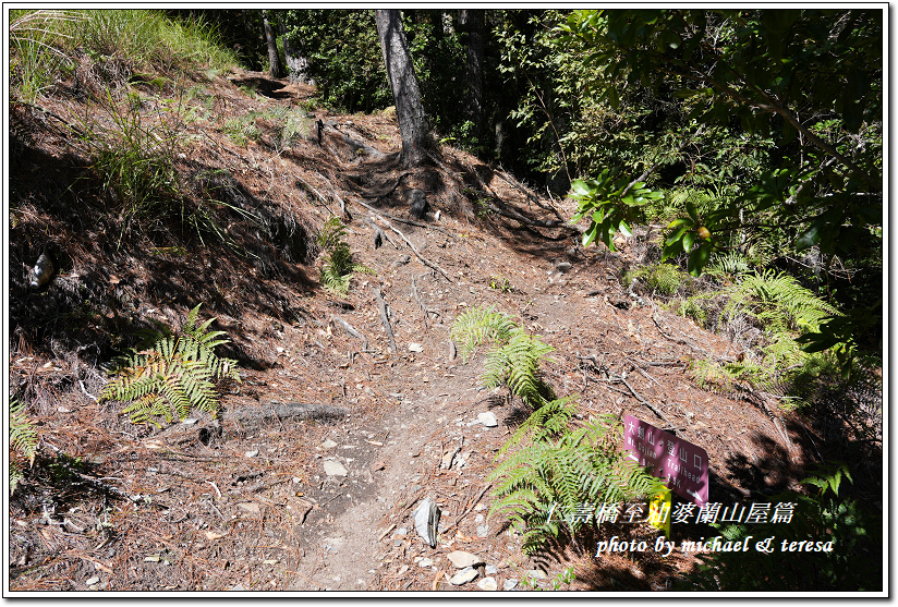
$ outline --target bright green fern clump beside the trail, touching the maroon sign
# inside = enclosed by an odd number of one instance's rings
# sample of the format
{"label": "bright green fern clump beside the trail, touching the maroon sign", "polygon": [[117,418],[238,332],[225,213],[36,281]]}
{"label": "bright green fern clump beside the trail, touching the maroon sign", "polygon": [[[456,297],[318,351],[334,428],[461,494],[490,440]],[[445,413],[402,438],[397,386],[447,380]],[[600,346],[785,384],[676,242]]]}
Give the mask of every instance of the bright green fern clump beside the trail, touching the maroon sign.
{"label": "bright green fern clump beside the trail, touching the maroon sign", "polygon": [[[473,307],[459,315],[450,336],[463,359],[486,340],[496,342],[486,359],[486,387],[507,385],[534,411],[499,450],[506,457],[489,474],[497,483],[489,515],[500,513],[523,532],[523,549],[538,550],[562,529],[575,533],[587,522],[565,519],[583,503],[621,501],[656,491],[659,482],[619,451],[621,426],[604,415],[573,423],[575,396],[556,398],[541,365],[553,348],[530,336],[495,308]],[[556,518],[553,519],[553,513]]]}

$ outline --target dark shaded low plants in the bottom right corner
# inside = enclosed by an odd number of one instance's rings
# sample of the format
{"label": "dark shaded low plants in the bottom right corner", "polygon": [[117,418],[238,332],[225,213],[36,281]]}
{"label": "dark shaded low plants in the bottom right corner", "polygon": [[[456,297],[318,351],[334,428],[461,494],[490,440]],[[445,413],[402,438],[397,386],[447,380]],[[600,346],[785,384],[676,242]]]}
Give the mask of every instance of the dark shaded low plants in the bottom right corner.
{"label": "dark shaded low plants in the bottom right corner", "polygon": [[[786,491],[770,497],[770,503],[794,503],[788,523],[714,525],[725,541],[739,541],[748,535],[759,539],[775,537],[773,551],[757,551],[752,546],[748,550],[699,555],[700,564],[682,579],[678,590],[884,590],[882,517],[860,500],[839,497],[842,479],[853,482],[845,464],[822,464],[802,481],[804,485],[816,487],[810,495]],[[784,543],[790,546],[801,541],[822,550],[794,553],[782,549]]]}

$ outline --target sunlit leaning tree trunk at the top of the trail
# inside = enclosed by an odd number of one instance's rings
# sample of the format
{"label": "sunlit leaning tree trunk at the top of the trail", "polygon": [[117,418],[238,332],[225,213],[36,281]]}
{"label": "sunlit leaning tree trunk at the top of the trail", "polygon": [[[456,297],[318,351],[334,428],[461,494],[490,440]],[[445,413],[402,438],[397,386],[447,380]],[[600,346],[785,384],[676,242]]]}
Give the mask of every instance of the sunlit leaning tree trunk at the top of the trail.
{"label": "sunlit leaning tree trunk at the top of the trail", "polygon": [[427,153],[435,149],[427,116],[421,101],[412,56],[399,11],[396,9],[375,11],[377,35],[380,37],[380,50],[384,64],[390,78],[399,131],[402,134],[402,153],[400,163],[404,168],[417,167],[427,160]]}

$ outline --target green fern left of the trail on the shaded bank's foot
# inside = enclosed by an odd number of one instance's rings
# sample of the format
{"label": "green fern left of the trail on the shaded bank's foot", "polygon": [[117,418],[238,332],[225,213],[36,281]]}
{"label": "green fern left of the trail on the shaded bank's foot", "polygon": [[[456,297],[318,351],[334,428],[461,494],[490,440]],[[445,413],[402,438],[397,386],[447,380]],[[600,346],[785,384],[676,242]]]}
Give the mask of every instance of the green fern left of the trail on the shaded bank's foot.
{"label": "green fern left of the trail on the shaded bank's foot", "polygon": [[[202,305],[202,304],[201,304]],[[218,393],[214,381],[230,377],[240,381],[236,361],[220,359],[215,348],[229,343],[223,331],[209,331],[215,318],[196,324],[199,305],[187,315],[175,336],[168,327],[145,333],[139,349],[116,360],[118,377],[109,380],[100,392],[100,400],[131,401],[123,409],[131,413],[135,424],[153,423],[173,416],[183,420],[191,409],[218,411]]]}

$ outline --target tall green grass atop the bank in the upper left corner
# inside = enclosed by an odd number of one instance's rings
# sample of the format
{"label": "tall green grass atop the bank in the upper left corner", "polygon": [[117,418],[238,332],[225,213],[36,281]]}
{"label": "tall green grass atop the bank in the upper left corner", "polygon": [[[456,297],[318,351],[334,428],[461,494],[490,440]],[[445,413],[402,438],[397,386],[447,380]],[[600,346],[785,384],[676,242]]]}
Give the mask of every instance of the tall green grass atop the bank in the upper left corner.
{"label": "tall green grass atop the bank in the upper left corner", "polygon": [[14,96],[32,101],[61,78],[76,53],[116,58],[132,70],[225,70],[238,63],[215,27],[174,21],[159,10],[12,11],[10,72]]}

